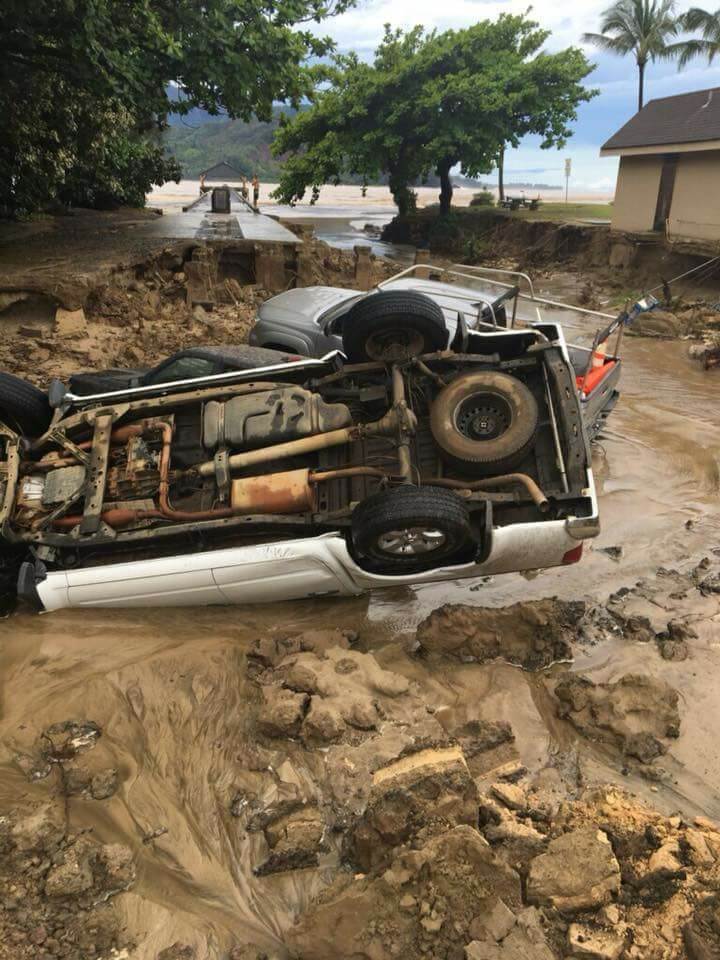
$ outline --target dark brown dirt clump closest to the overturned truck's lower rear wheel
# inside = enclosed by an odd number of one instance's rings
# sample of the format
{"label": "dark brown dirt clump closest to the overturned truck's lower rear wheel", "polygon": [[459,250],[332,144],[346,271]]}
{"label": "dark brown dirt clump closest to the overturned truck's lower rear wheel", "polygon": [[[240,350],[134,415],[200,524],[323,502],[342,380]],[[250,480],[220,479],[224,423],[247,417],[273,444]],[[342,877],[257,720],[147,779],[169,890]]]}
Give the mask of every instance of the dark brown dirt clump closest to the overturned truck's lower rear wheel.
{"label": "dark brown dirt clump closest to the overturned truck's lower rear wheel", "polygon": [[539,669],[572,658],[571,640],[584,610],[582,603],[557,599],[500,608],[446,604],[419,625],[417,641],[463,661],[501,658]]}

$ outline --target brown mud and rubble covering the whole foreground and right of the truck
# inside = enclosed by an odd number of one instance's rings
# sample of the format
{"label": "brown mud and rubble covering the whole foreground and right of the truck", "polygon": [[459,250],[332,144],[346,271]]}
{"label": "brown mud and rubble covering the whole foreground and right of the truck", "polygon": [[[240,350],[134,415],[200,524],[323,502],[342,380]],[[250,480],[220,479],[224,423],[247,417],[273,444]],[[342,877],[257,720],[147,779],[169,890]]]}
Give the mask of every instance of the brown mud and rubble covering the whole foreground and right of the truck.
{"label": "brown mud and rubble covering the whole foreground and right of the truck", "polygon": [[[103,357],[207,335],[146,269],[87,308]],[[241,290],[205,342],[242,338]],[[39,381],[100,363],[24,337]],[[0,623],[0,957],[720,955],[720,423],[683,344],[625,364],[574,567]]]}

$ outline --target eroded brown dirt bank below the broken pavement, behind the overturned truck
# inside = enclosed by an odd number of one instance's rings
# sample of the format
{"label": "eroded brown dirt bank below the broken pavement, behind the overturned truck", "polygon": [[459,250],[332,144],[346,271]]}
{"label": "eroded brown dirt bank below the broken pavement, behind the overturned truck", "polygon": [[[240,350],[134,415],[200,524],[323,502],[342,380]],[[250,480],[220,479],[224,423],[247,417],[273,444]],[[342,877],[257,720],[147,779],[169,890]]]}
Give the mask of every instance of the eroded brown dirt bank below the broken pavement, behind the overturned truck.
{"label": "eroded brown dirt bank below the broken pavement, behind the overturned truck", "polygon": [[[81,370],[147,368],[187,347],[245,343],[272,296],[243,266],[247,251],[227,243],[183,241],[82,275],[72,250],[66,257],[32,280],[0,278],[0,369],[41,387]],[[313,240],[301,259],[299,285],[355,282],[352,251]],[[375,282],[396,267],[372,257],[369,269]]]}

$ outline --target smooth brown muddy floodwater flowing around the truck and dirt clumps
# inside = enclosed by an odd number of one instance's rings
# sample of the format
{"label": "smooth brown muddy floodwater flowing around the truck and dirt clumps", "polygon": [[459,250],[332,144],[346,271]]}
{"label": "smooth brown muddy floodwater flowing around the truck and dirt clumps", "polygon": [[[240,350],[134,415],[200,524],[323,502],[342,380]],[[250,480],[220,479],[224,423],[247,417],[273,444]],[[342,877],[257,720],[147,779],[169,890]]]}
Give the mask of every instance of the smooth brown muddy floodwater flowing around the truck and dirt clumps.
{"label": "smooth brown muddy floodwater flowing around the truck and dirt clumps", "polygon": [[[569,340],[588,341],[593,324],[568,319],[566,331]],[[595,681],[643,673],[679,691],[681,734],[658,786],[623,777],[607,753],[579,741],[557,720],[535,674],[504,663],[450,669],[407,654],[418,623],[442,604],[549,596],[603,602],[658,567],[683,570],[720,545],[720,372],[693,365],[682,342],[627,337],[623,352],[622,397],[594,455],[602,534],[576,566],[265,607],[20,610],[0,624],[0,809],[47,794],[47,779],[33,782],[18,762],[45,728],[68,719],[99,725],[94,754],[117,768],[120,787],[102,803],[69,797],[67,811],[71,825],[135,852],[137,881],[117,898],[141,944],[133,957],[154,960],[178,940],[196,946],[198,957],[224,956],[238,941],[282,955],[283,931],[337,863],[330,843],[313,871],[255,876],[256,835],[240,831],[231,812],[234,798],[257,789],[257,772],[248,772],[255,750],[248,707],[258,693],[245,654],[265,634],[357,631],[360,649],[419,683],[430,709],[463,716],[480,705],[510,721],[529,769],[554,753],[579,751],[591,780],[622,782],[667,812],[720,817],[720,620],[700,601],[697,609],[686,601],[682,611],[700,624],[689,660],[667,662],[648,644],[622,638],[574,651],[573,669]],[[662,597],[648,606],[667,621]],[[268,802],[288,785],[316,794],[324,755],[299,754],[290,744],[283,760],[275,755],[279,766],[262,786]]]}

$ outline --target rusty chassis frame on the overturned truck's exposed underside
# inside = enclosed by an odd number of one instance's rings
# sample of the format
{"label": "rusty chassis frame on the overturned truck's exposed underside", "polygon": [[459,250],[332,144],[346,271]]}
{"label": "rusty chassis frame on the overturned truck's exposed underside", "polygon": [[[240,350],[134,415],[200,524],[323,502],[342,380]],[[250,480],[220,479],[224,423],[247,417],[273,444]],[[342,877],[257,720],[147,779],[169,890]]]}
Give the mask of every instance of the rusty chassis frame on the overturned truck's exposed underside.
{"label": "rusty chassis frame on the overturned truck's exposed underside", "polygon": [[[497,355],[480,354],[456,354],[452,350],[439,351],[437,353],[426,354],[416,358],[406,364],[408,368],[415,368],[423,375],[433,379],[436,383],[443,384],[441,372],[444,367],[467,366],[471,364],[493,364],[498,369],[507,369],[517,366],[531,364],[540,364],[543,367],[544,377],[546,378],[548,397],[552,418],[557,431],[557,424],[562,426],[564,436],[567,438],[568,449],[563,461],[564,476],[564,494],[558,494],[556,499],[565,499],[577,497],[577,492],[571,492],[572,487],[575,490],[582,489],[584,486],[584,465],[589,462],[589,449],[585,440],[584,431],[580,419],[580,412],[577,398],[574,390],[574,383],[571,380],[567,364],[564,362],[559,347],[553,346],[546,338],[544,342],[538,342],[530,348],[529,353],[515,361],[500,361]],[[9,543],[26,543],[28,545],[42,545],[48,548],[67,548],[80,549],[90,546],[109,545],[113,543],[142,543],[148,540],[164,539],[166,537],[178,536],[182,534],[194,533],[199,530],[216,532],[223,529],[238,530],[252,529],[253,531],[267,531],[279,534],[283,529],[297,531],[299,528],[312,526],[313,533],[320,532],[323,529],[337,529],[338,526],[349,522],[350,509],[335,511],[333,513],[303,513],[303,514],[249,514],[236,515],[229,508],[221,508],[208,511],[199,511],[195,514],[185,513],[183,511],[173,511],[168,500],[168,469],[169,469],[169,450],[172,438],[172,426],[167,420],[163,420],[163,414],[167,414],[171,409],[187,404],[193,401],[202,402],[214,397],[233,397],[254,392],[274,389],[277,386],[287,385],[289,375],[290,382],[297,380],[296,375],[307,372],[308,367],[320,367],[324,376],[313,379],[304,377],[302,382],[307,382],[311,387],[317,388],[323,384],[340,380],[353,374],[380,372],[387,370],[383,363],[362,363],[343,366],[342,369],[328,370],[330,363],[323,364],[297,364],[287,365],[284,368],[276,368],[285,376],[281,381],[249,381],[244,383],[228,383],[225,375],[223,382],[217,382],[218,377],[208,378],[205,386],[191,390],[183,390],[177,393],[167,391],[164,396],[142,397],[137,400],[124,400],[118,403],[107,404],[97,408],[82,409],[77,413],[70,414],[63,418],[62,412],[56,413],[56,417],[51,424],[48,432],[30,445],[30,451],[38,451],[47,443],[56,443],[64,451],[62,465],[70,463],[82,463],[88,467],[88,478],[85,486],[79,492],[75,499],[84,497],[84,509],[81,516],[66,518],[72,520],[72,529],[67,533],[54,533],[49,530],[19,535],[9,523],[15,499],[17,496],[17,487],[20,479],[21,468],[21,443],[20,439],[10,430],[0,424],[0,437],[6,439],[7,458],[5,463],[0,464],[0,479],[5,474],[5,496],[0,506],[0,533]],[[439,368],[439,370],[438,370]],[[268,373],[268,370],[264,370]],[[275,370],[273,370],[275,372]],[[237,375],[236,375],[237,376]],[[395,452],[397,456],[397,470],[394,472],[382,471],[373,467],[351,467],[340,470],[314,470],[310,476],[312,482],[323,482],[340,476],[349,476],[352,474],[372,475],[381,479],[383,482],[410,483],[413,481],[413,464],[411,460],[411,439],[415,433],[417,422],[414,413],[410,410],[405,392],[405,382],[401,366],[394,364],[390,370],[392,405],[380,420],[365,423],[357,426],[343,428],[332,431],[331,433],[318,434],[306,437],[300,440],[288,441],[282,444],[276,444],[270,447],[260,448],[259,450],[248,451],[245,453],[233,454],[228,458],[229,467],[236,470],[243,469],[252,465],[261,464],[269,460],[283,459],[298,454],[309,453],[320,449],[325,449],[330,445],[347,444],[354,439],[371,436],[386,436],[394,440]],[[551,389],[554,392],[557,404],[552,402],[550,397]],[[127,415],[135,415],[152,411],[151,417],[143,419],[142,424],[129,424],[125,427],[120,426],[113,430],[113,425]],[[144,425],[144,426],[143,426]],[[92,441],[83,441],[78,444],[67,434],[78,428],[86,426],[92,429]],[[137,511],[138,519],[142,519],[142,514],[150,518],[164,519],[168,521],[168,526],[158,526],[153,528],[143,528],[134,530],[115,529],[106,520],[111,519],[103,516],[102,503],[107,476],[107,468],[111,443],[113,436],[122,434],[128,435],[132,429],[156,429],[163,434],[163,454],[161,460],[161,485],[160,485],[160,508],[152,511]],[[40,461],[42,462],[42,461]],[[198,467],[189,468],[189,473],[196,471],[199,476],[212,476],[216,470],[215,461],[207,461]],[[538,485],[525,474],[510,474],[502,477],[491,478],[483,481],[463,481],[452,480],[451,478],[424,478],[423,482],[438,483],[439,485],[449,486],[461,492],[470,501],[485,503],[487,501],[497,503],[519,503],[523,501],[532,501],[543,512],[548,509],[548,500]],[[522,490],[519,492],[503,492],[503,489],[515,488]],[[500,488],[500,489],[498,489]],[[46,517],[46,524],[60,521],[62,513],[70,507],[70,503],[64,503],[61,508],[56,510],[50,518]]]}

